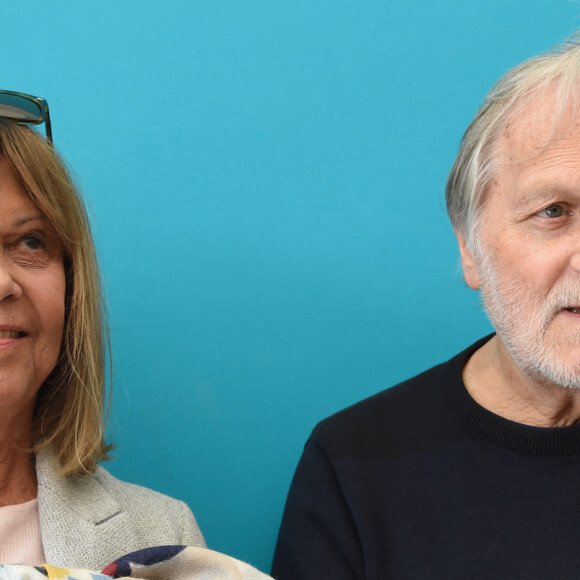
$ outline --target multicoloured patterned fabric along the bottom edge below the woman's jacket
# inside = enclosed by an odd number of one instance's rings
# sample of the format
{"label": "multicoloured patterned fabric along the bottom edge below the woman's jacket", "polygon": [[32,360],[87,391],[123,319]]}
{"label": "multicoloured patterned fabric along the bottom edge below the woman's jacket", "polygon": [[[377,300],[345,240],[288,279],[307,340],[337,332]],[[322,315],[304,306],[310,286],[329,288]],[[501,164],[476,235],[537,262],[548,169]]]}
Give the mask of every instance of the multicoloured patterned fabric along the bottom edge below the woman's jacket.
{"label": "multicoloured patterned fabric along the bottom edge below the woman's jacket", "polygon": [[0,580],[267,580],[270,576],[219,552],[193,546],[157,546],[127,554],[102,572],[0,565]]}

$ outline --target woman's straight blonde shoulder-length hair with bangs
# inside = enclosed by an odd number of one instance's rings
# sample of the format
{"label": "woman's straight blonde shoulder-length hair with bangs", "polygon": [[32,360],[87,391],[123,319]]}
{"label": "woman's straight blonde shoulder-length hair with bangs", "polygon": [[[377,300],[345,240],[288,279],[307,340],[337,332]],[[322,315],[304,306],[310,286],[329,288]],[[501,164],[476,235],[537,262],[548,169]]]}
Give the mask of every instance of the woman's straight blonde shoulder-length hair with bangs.
{"label": "woman's straight blonde shoulder-length hair with bangs", "polygon": [[64,249],[64,335],[58,362],[37,396],[33,451],[52,448],[63,474],[90,473],[99,460],[107,459],[105,359],[109,341],[89,220],[64,162],[34,130],[0,121],[0,157],[55,228]]}

